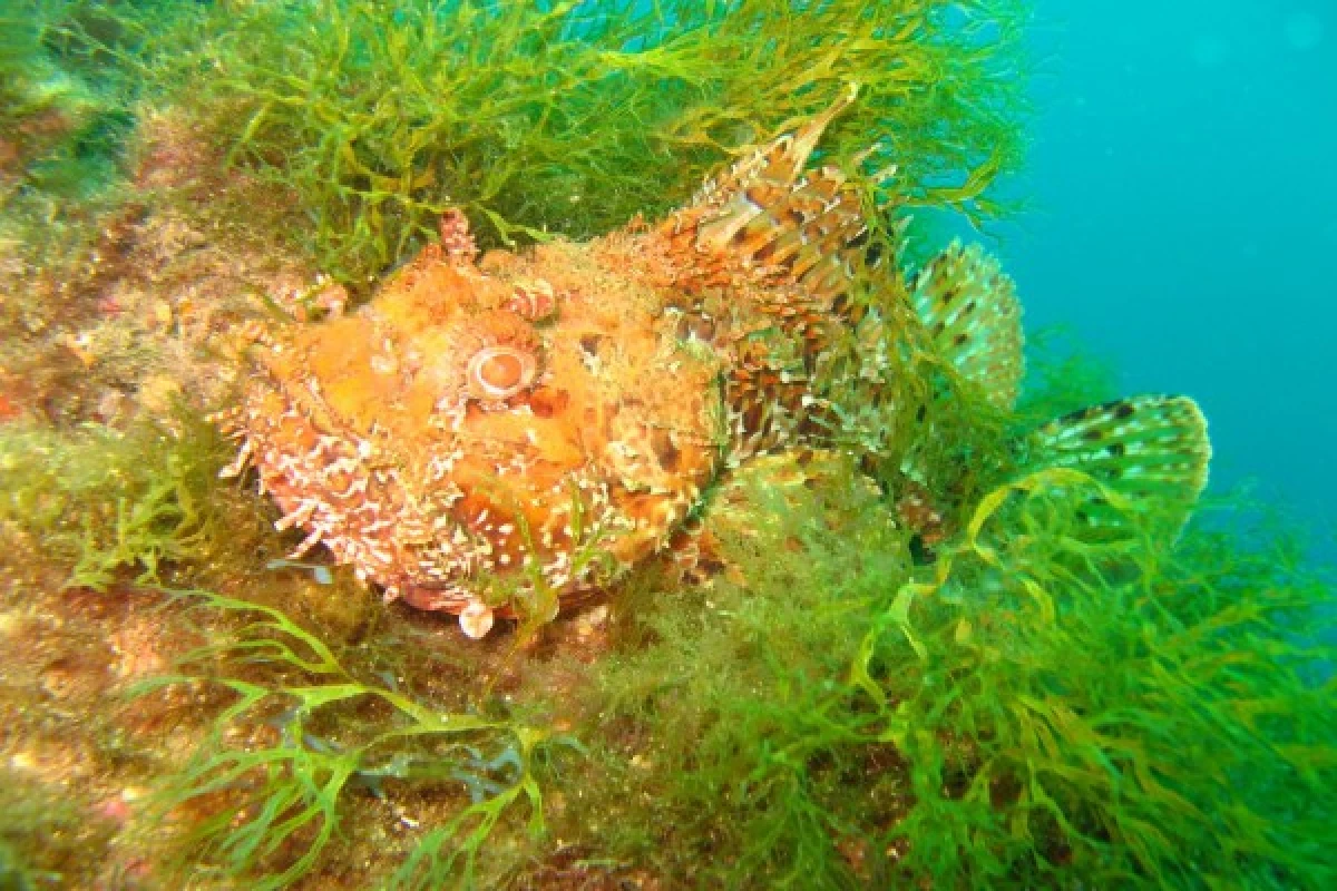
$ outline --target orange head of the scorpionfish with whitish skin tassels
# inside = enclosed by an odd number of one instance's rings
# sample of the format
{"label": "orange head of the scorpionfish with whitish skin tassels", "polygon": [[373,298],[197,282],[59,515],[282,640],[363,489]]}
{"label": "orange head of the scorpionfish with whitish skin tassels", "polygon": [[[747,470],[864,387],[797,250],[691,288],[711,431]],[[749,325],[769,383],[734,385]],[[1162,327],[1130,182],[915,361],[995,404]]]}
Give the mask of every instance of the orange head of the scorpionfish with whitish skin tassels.
{"label": "orange head of the scorpionfish with whitish skin tassels", "polygon": [[303,546],[489,624],[606,586],[717,473],[721,359],[664,319],[590,244],[429,248],[361,310],[261,338],[234,427]]}

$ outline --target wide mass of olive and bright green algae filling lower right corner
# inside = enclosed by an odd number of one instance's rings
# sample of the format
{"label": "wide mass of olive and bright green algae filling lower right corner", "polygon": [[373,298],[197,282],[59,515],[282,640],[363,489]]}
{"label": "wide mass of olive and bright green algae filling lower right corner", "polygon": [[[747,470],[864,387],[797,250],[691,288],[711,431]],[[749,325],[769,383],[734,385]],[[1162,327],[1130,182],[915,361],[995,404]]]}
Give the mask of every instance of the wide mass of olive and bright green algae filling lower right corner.
{"label": "wide mass of olive and bright green algae filling lower right corner", "polygon": [[919,568],[857,488],[753,514],[596,673],[591,834],[747,887],[1330,884],[1332,589],[1282,532],[1091,542],[1098,485],[1024,476]]}

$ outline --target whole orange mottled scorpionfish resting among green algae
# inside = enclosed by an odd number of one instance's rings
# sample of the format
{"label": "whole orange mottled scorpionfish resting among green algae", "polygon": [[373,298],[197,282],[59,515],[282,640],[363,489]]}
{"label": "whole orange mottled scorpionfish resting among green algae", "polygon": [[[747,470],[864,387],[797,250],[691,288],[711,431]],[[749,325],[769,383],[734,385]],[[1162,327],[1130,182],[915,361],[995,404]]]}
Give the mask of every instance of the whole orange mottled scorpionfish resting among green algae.
{"label": "whole orange mottled scorpionfish resting among green algae", "polygon": [[[293,558],[322,544],[480,637],[517,597],[575,602],[674,545],[742,462],[904,439],[935,399],[908,343],[1009,409],[1020,310],[997,263],[952,244],[902,274],[842,170],[808,168],[854,94],[652,226],[479,256],[447,212],[368,305],[254,333],[225,473],[254,465],[277,526],[306,533]],[[1209,445],[1190,399],[1140,397],[1040,427],[1028,456],[1191,505]],[[904,465],[906,522],[941,521],[910,457],[877,458]]]}

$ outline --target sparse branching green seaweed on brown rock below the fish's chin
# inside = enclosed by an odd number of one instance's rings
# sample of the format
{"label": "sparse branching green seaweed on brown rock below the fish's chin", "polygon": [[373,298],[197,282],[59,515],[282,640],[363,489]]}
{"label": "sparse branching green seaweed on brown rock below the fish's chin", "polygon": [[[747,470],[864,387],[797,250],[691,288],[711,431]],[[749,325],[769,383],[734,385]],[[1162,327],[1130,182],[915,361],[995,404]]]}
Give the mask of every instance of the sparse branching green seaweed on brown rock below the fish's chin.
{"label": "sparse branching green seaweed on brown rock below the fish's chin", "polygon": [[[422,835],[390,887],[471,887],[479,851],[520,800],[529,808],[528,832],[543,835],[535,764],[568,740],[511,720],[437,711],[380,675],[360,680],[278,609],[203,590],[167,593],[243,622],[182,656],[180,673],[132,691],[143,696],[213,684],[234,695],[193,763],[166,777],[154,800],[162,816],[195,801],[227,800],[182,839],[190,870],[211,867],[251,888],[289,887],[328,856],[354,789],[384,796],[382,784],[392,781],[463,784],[472,800]],[[245,672],[247,665],[259,667],[259,676]],[[269,741],[227,741],[257,724],[275,731]]]}

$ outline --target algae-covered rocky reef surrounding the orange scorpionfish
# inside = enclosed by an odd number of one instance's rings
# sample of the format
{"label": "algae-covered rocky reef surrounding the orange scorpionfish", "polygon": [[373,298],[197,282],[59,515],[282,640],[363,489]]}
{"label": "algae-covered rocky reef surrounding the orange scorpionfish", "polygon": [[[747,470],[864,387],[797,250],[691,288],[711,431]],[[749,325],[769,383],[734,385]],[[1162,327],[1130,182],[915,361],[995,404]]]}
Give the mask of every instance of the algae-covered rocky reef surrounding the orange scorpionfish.
{"label": "algae-covered rocky reef surrounding the orange scorpionfish", "polygon": [[1038,422],[1119,419],[1083,411],[1110,394],[1080,363],[1042,357],[1000,407],[919,343],[908,464],[749,462],[686,577],[647,564],[481,643],[286,560],[302,536],[218,480],[229,331],[336,311],[313,270],[357,299],[449,207],[500,246],[658,220],[858,83],[822,160],[873,192],[858,174],[897,164],[873,204],[985,219],[1021,144],[1023,13],[24,7],[19,69],[103,84],[135,127],[98,203],[29,172],[78,128],[5,170],[0,882],[1337,882],[1330,582],[1238,498],[1177,537],[1182,504],[1028,462]]}

